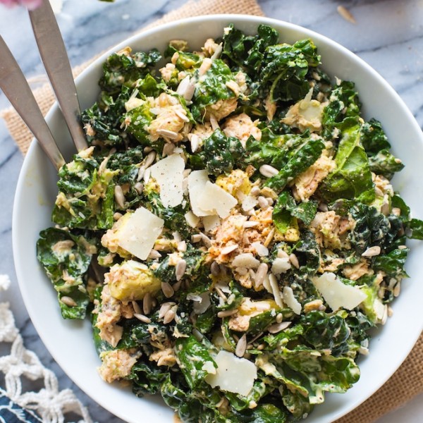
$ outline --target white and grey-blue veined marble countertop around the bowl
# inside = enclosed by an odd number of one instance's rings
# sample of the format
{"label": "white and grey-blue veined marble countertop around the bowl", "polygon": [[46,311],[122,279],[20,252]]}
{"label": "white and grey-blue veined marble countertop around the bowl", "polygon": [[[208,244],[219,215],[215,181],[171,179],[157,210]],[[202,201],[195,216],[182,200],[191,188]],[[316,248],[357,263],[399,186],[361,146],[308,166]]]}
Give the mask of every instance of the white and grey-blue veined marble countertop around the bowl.
{"label": "white and grey-blue veined marble countertop around the bowl", "polygon": [[[212,1],[212,0],[210,0]],[[266,16],[287,20],[320,32],[343,44],[367,61],[400,94],[423,127],[423,0],[258,0]],[[58,21],[73,66],[120,42],[135,30],[164,13],[182,6],[185,0],[63,0]],[[355,17],[350,23],[337,12],[343,4]],[[42,75],[43,68],[27,13],[23,8],[0,5],[0,34],[4,37],[27,78]],[[0,110],[8,107],[0,93]],[[59,378],[61,388],[73,388],[90,410],[94,421],[119,423],[121,419],[103,410],[75,386],[54,362],[32,326],[20,298],[13,269],[11,216],[13,196],[23,157],[0,121],[0,274],[11,277],[11,289],[1,301],[11,302],[26,348]],[[423,395],[379,422],[423,421]]]}

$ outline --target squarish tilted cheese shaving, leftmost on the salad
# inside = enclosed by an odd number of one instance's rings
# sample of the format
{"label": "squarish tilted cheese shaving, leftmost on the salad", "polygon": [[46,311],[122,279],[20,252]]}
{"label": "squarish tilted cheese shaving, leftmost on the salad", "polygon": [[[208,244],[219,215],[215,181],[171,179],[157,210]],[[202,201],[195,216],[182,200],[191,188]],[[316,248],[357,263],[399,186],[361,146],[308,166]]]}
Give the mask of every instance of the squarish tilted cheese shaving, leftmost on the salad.
{"label": "squarish tilted cheese shaving, leftmost on the salad", "polygon": [[118,231],[118,245],[135,257],[145,260],[161,234],[163,226],[163,219],[145,207],[140,207],[130,215],[123,228]]}

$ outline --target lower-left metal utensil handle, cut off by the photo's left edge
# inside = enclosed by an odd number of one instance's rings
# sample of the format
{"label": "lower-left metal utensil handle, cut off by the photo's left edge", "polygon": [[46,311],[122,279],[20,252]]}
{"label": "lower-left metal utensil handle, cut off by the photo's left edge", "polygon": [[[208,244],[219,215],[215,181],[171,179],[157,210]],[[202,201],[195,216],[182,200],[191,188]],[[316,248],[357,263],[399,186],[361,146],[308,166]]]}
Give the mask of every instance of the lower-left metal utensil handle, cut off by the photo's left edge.
{"label": "lower-left metal utensil handle, cut off by the photo's left edge", "polygon": [[13,54],[0,36],[0,88],[37,138],[44,152],[57,169],[65,160],[51,135],[50,128],[35,101],[34,94]]}

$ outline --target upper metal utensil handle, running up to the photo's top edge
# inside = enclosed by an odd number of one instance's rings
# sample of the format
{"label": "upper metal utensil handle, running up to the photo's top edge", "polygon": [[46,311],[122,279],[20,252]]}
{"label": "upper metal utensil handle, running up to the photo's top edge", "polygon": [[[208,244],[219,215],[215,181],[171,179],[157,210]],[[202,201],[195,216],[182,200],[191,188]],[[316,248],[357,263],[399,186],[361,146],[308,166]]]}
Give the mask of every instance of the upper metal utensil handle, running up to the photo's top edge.
{"label": "upper metal utensil handle, running up to the photo's top edge", "polygon": [[49,75],[51,86],[68,125],[76,149],[87,147],[85,133],[80,125],[80,104],[73,80],[66,47],[49,0],[30,11],[32,30],[37,40],[39,54]]}

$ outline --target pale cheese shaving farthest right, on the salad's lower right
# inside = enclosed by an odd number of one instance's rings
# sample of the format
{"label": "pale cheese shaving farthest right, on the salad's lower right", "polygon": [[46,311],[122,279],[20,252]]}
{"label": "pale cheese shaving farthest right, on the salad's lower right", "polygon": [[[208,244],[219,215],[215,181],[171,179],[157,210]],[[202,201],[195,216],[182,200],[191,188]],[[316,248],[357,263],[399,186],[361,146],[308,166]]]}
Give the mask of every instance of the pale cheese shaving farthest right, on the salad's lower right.
{"label": "pale cheese shaving farthest right, on the salad's lower right", "polygon": [[341,307],[351,310],[366,299],[366,294],[359,288],[345,285],[332,272],[325,272],[319,278],[314,278],[313,283],[333,311]]}

